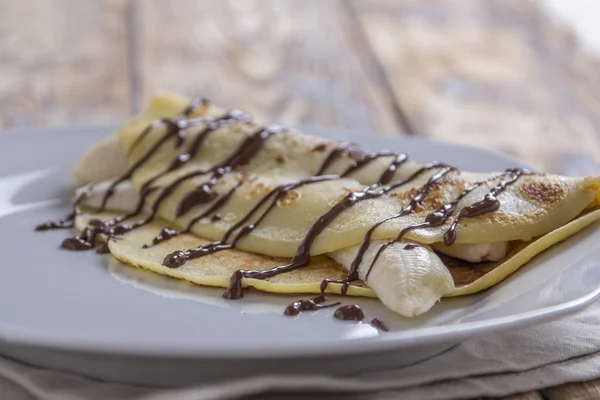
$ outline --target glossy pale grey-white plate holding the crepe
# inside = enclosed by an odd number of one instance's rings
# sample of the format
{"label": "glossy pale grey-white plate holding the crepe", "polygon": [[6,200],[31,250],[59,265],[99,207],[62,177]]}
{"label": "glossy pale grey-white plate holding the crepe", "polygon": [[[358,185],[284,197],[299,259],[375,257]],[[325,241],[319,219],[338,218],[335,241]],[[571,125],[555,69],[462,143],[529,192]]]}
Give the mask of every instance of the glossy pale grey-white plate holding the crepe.
{"label": "glossy pale grey-white plate holding the crepe", "polygon": [[[0,353],[96,378],[175,385],[256,373],[351,374],[406,365],[462,339],[557,317],[589,303],[600,287],[600,226],[535,258],[486,293],[444,299],[403,319],[370,299],[357,302],[391,332],[332,318],[290,318],[302,296],[188,285],[58,248],[68,231],[33,227],[68,213],[70,168],[110,128],[29,129],[0,134]],[[311,133],[391,148],[473,171],[522,163],[500,154],[363,132]]]}

